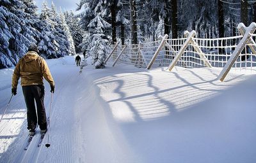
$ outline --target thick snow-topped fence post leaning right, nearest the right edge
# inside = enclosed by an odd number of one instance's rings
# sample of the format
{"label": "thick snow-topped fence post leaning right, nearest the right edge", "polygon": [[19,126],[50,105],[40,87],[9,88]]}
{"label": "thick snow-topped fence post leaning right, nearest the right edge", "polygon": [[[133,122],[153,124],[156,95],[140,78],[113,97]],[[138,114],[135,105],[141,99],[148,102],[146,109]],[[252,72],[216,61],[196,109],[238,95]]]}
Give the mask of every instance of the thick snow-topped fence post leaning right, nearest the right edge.
{"label": "thick snow-topped fence post leaning right, nearest the right edge", "polygon": [[[241,28],[241,27],[244,27],[243,23],[240,23],[237,26],[238,29]],[[225,77],[227,76],[231,67],[233,66],[234,62],[236,62],[237,57],[239,57],[240,53],[243,51],[244,47],[246,46],[246,44],[250,40],[250,38],[251,38],[253,32],[255,31],[255,29],[256,29],[256,24],[254,22],[252,24],[250,24],[249,27],[246,28],[246,31],[244,32],[243,39],[241,39],[239,44],[236,46],[234,52],[230,56],[230,59],[228,59],[227,64],[225,64],[225,66],[223,67],[223,69],[222,69],[222,71],[219,75],[220,81],[223,81],[225,79]]]}

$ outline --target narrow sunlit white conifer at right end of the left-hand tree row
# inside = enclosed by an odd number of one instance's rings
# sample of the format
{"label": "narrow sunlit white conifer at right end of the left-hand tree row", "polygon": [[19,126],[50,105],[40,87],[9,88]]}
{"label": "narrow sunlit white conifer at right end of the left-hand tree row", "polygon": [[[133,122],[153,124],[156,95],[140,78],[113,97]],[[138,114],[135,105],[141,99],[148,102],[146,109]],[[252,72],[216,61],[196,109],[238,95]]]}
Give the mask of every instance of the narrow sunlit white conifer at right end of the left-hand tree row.
{"label": "narrow sunlit white conifer at right end of the left-hand tree row", "polygon": [[65,35],[67,36],[67,39],[68,39],[68,42],[69,42],[69,45],[70,45],[69,52],[70,52],[71,55],[75,55],[76,54],[76,48],[74,46],[74,40],[73,40],[73,37],[71,35],[70,29],[67,25],[67,22],[65,20],[65,16],[61,12],[61,9],[60,9],[59,15],[60,15],[60,20],[61,20],[61,27],[62,27],[63,31],[65,32]]}

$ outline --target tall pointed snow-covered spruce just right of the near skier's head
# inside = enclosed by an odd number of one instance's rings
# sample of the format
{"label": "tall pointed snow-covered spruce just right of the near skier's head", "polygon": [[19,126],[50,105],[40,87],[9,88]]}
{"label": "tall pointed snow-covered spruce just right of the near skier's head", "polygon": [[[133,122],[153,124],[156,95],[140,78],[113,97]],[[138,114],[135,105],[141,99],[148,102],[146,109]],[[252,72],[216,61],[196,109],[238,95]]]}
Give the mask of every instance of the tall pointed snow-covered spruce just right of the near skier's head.
{"label": "tall pointed snow-covered spruce just right of the near skier's head", "polygon": [[42,10],[40,14],[40,43],[38,44],[38,50],[40,55],[45,59],[54,59],[57,58],[57,51],[59,44],[55,41],[56,36],[54,36],[54,23],[49,18],[50,9],[47,5],[47,1],[42,3]]}

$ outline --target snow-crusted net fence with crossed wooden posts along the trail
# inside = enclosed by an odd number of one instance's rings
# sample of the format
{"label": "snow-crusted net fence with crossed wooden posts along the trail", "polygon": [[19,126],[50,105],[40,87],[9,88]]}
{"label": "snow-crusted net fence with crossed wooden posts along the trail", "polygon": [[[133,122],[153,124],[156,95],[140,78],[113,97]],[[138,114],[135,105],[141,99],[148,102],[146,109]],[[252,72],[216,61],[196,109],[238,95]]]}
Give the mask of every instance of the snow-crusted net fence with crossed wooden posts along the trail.
{"label": "snow-crusted net fence with crossed wooden posts along the trail", "polygon": [[[196,38],[195,31],[185,31],[185,37],[179,39],[164,36],[157,41],[138,45],[116,44],[111,45],[113,52],[109,57],[115,60],[115,64],[122,62],[147,69],[161,66],[168,66],[170,71],[173,66],[223,67],[220,74],[220,80],[223,81],[223,75],[230,69],[256,73],[255,28],[255,23],[249,27],[241,23],[238,25],[241,35],[227,38]],[[233,61],[230,60],[228,66],[229,59]]]}

